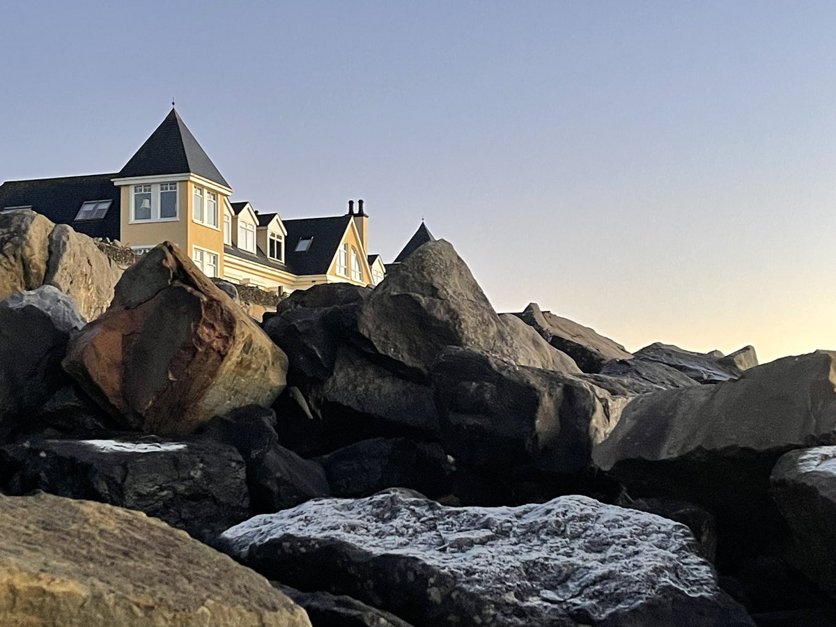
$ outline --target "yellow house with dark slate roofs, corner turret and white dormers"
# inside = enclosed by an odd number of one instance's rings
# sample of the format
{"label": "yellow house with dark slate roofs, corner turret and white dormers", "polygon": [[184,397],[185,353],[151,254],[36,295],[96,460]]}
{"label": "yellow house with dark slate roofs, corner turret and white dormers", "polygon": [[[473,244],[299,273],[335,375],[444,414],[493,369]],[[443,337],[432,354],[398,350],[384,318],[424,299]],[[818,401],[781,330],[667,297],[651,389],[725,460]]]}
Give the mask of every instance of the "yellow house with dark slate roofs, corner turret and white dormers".
{"label": "yellow house with dark slate roofs, corner turret and white dormers", "polygon": [[138,254],[167,240],[206,276],[278,293],[383,280],[380,257],[368,252],[363,201],[356,211],[349,201],[339,216],[283,220],[231,196],[232,186],[172,108],[120,171],[6,181],[0,212],[32,209]]}

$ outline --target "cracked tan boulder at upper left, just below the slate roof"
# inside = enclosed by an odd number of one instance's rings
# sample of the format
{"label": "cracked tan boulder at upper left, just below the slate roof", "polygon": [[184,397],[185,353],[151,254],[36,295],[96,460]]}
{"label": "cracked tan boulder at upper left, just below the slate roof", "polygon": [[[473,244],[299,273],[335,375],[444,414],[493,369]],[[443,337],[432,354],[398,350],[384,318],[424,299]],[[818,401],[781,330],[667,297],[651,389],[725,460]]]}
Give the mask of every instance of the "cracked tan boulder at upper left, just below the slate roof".
{"label": "cracked tan boulder at upper left, just below the slate roof", "polygon": [[0,215],[0,298],[53,285],[86,319],[104,312],[122,273],[86,235],[31,211]]}

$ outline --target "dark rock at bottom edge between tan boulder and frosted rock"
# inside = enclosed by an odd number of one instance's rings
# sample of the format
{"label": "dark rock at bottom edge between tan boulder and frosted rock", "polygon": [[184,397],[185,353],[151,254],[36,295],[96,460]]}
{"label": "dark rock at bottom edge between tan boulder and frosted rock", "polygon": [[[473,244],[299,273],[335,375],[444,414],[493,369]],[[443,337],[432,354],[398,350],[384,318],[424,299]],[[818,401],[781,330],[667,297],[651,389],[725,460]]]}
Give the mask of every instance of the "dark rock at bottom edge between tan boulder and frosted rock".
{"label": "dark rock at bottom edge between tan boulder and frosted rock", "polygon": [[337,596],[327,592],[301,592],[276,582],[273,585],[308,612],[314,627],[412,627],[395,614],[373,608],[344,594]]}

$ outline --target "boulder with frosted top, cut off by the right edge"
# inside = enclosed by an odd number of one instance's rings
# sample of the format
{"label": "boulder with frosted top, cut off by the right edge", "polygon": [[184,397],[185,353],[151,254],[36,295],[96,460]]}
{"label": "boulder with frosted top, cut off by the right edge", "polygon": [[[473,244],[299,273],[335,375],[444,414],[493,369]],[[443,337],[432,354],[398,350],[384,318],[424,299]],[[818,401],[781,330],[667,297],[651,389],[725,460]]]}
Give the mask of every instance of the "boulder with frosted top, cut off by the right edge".
{"label": "boulder with frosted top, cut off by the right edge", "polygon": [[772,469],[771,482],[793,532],[793,561],[836,596],[836,446],[788,452]]}

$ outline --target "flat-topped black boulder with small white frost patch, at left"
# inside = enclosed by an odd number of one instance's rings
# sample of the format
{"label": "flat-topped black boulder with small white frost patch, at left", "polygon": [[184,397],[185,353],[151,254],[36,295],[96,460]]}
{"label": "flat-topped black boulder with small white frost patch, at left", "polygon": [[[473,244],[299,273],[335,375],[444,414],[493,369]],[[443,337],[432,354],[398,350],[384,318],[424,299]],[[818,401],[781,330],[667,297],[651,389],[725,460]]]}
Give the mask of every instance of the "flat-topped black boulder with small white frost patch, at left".
{"label": "flat-topped black boulder with small white frost patch, at left", "polygon": [[250,515],[241,456],[212,442],[32,439],[0,447],[0,487],[136,509],[207,543]]}

